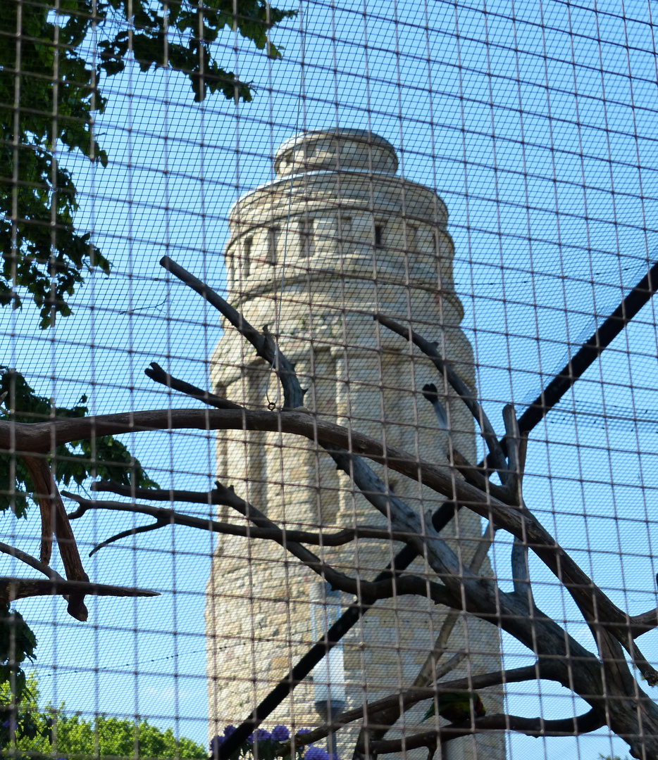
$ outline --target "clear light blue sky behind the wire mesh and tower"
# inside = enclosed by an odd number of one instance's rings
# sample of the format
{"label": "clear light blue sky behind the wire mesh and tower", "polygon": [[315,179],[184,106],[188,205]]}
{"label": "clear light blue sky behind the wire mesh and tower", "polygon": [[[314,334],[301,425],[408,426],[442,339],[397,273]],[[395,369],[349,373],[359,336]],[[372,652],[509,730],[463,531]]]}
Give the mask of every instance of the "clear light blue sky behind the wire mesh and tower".
{"label": "clear light blue sky behind the wire mesh and tower", "polygon": [[[199,106],[182,76],[163,71],[128,67],[103,83],[109,103],[97,134],[110,165],[61,160],[81,190],[78,225],[94,232],[113,275],[90,276],[72,318],[52,331],[35,331],[29,307],[2,312],[3,363],[59,404],[86,393],[98,413],[188,405],[155,388],[143,369],[157,360],[207,385],[218,315],[157,262],[170,255],[222,290],[227,213],[243,192],[272,179],[277,145],[296,128],[370,128],[396,147],[400,173],[447,204],[478,387],[500,420],[502,404],[530,401],[542,378],[564,365],[569,345],[614,308],[620,283],[639,280],[656,258],[656,55],[647,3],[281,5],[303,11],[275,30],[283,61],[228,32],[217,46],[227,68],[256,84],[253,103],[211,98]],[[650,304],[561,413],[538,426],[526,479],[530,508],[633,613],[656,604],[654,325]],[[162,486],[211,487],[211,436],[163,432],[130,445]],[[75,531],[91,547],[129,524],[129,516],[87,515]],[[8,537],[37,553],[33,519],[5,518]],[[207,536],[185,529],[105,549],[88,562],[93,578],[163,595],[93,602],[87,625],[61,603],[23,603],[40,638],[44,697],[89,713],[141,714],[205,741],[210,553]],[[494,561],[504,577],[504,541]],[[540,606],[593,646],[555,579],[539,562],[532,573]],[[640,644],[656,660],[656,635]],[[526,661],[507,638],[504,651],[511,665]],[[510,711],[536,714],[541,701],[545,714],[564,714],[571,697],[544,687],[541,697],[517,689]],[[625,753],[623,742],[600,735],[514,738],[510,757],[587,760],[612,747]]]}

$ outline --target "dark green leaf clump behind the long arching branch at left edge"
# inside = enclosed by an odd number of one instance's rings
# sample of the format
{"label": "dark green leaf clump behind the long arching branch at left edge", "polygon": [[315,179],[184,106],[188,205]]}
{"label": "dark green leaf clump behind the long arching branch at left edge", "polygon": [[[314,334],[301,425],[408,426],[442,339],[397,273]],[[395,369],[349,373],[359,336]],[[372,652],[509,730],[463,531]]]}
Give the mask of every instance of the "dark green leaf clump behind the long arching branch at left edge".
{"label": "dark green leaf clump behind the long arching branch at left edge", "polygon": [[[3,393],[7,395],[0,407],[0,420],[40,423],[56,417],[82,417],[89,411],[84,406],[86,396],[82,396],[75,407],[54,407],[52,399],[35,393],[20,372],[0,366],[0,394]],[[81,486],[87,478],[97,476],[124,486],[134,483],[138,488],[158,487],[126,446],[112,435],[99,436],[93,442],[86,439],[59,445],[49,458],[49,465],[56,482],[65,486],[71,482]],[[11,508],[17,517],[24,517],[27,498],[32,498],[30,494],[36,489],[20,457],[0,453],[0,483],[10,486],[0,491],[0,510]]]}

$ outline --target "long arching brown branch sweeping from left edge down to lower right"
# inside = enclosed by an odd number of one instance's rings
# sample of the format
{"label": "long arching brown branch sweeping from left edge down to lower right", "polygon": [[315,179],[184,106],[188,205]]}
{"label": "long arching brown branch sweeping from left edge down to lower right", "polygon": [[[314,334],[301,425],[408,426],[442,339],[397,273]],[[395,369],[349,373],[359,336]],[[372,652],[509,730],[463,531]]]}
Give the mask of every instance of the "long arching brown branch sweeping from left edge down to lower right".
{"label": "long arching brown branch sweeping from left edge down to lower right", "polygon": [[[157,429],[239,429],[290,432],[302,435],[312,441],[332,444],[351,451],[351,454],[366,456],[373,461],[387,464],[413,480],[420,477],[424,485],[442,493],[449,499],[477,512],[485,518],[492,518],[497,527],[503,527],[513,536],[526,540],[539,559],[552,570],[574,597],[586,619],[599,620],[606,625],[618,626],[628,632],[628,616],[606,597],[585,572],[571,559],[564,549],[555,542],[548,531],[529,512],[510,508],[493,494],[483,493],[475,486],[457,480],[435,464],[418,460],[412,454],[382,442],[368,435],[345,429],[339,425],[318,420],[308,413],[281,411],[269,413],[251,410],[153,410],[64,418],[48,423],[14,423],[0,420],[0,448],[18,451],[48,450],[52,445],[72,440],[90,438],[91,435],[116,435],[121,432]],[[354,462],[358,458],[354,458]],[[359,486],[361,487],[361,486]],[[390,501],[393,504],[393,501]],[[422,533],[422,531],[421,531]],[[432,541],[425,541],[418,534],[417,551],[424,553]],[[479,581],[478,581],[479,582]],[[596,610],[595,602],[596,600]],[[647,630],[643,626],[642,632]]]}

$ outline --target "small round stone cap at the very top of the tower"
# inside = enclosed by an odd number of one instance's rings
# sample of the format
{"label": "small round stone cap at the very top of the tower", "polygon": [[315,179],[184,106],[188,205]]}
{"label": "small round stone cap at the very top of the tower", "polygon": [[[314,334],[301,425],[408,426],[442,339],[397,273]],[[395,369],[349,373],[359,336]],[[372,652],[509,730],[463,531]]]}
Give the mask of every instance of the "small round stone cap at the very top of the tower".
{"label": "small round stone cap at the very top of the tower", "polygon": [[315,171],[363,171],[395,174],[396,149],[366,129],[318,129],[300,132],[278,147],[277,177]]}

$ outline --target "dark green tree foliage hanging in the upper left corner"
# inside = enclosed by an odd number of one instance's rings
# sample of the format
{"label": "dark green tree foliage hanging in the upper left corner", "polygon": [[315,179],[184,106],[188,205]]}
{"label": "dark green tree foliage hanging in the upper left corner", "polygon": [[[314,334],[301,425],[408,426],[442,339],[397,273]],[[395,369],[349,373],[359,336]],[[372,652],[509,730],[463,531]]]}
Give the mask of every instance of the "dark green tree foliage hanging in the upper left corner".
{"label": "dark green tree foliage hanging in the upper left corner", "polygon": [[[92,131],[106,106],[103,77],[132,58],[141,71],[182,71],[197,102],[208,93],[248,101],[253,85],[219,64],[213,43],[235,29],[279,59],[268,31],[294,15],[265,0],[237,0],[235,14],[234,0],[59,0],[57,8],[0,2],[0,306],[20,308],[29,294],[41,328],[71,313],[67,298],[87,268],[110,273],[90,233],[75,230],[77,190],[55,154],[79,150],[106,166]],[[83,49],[92,32],[95,66]]]}

